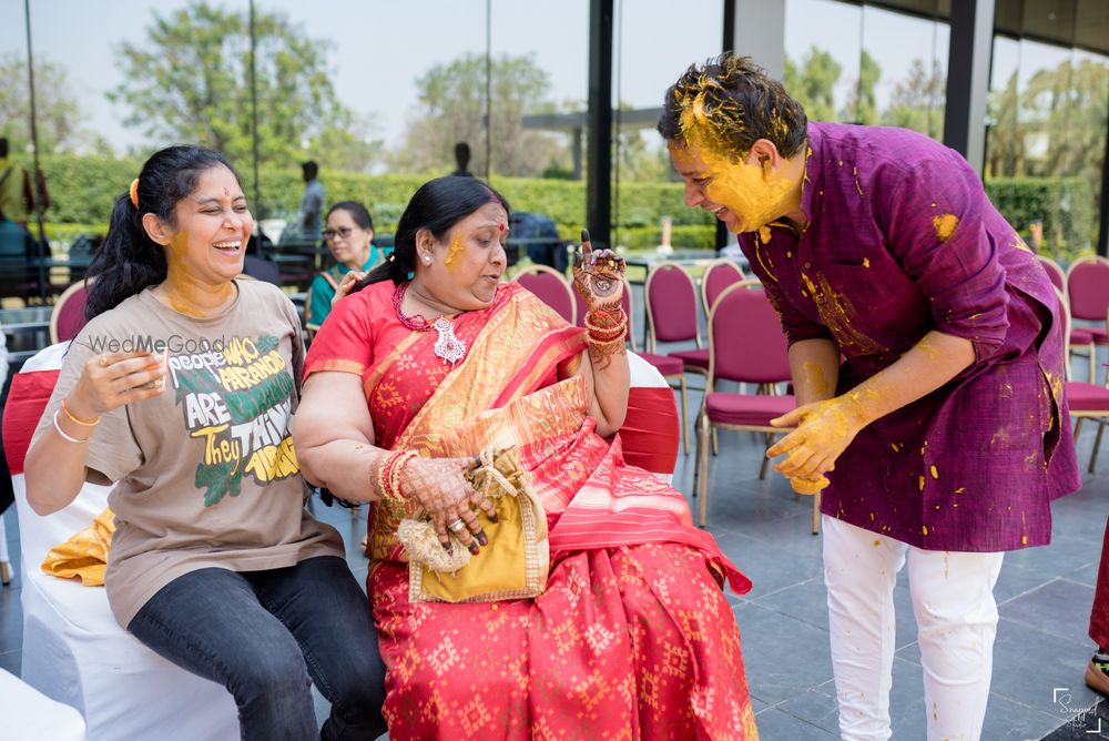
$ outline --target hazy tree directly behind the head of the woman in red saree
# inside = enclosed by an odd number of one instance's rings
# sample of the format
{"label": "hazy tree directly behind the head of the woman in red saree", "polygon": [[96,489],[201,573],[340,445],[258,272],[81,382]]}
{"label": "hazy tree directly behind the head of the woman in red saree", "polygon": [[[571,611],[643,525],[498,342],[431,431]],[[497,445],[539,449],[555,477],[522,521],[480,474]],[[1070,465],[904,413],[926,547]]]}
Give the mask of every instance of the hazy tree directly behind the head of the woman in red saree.
{"label": "hazy tree directly behind the head of the woman in red saree", "polygon": [[[550,80],[535,59],[502,54],[491,60],[490,142],[494,173],[535,176],[559,159],[564,144],[550,134],[525,130],[522,118],[552,112]],[[486,169],[486,59],[468,53],[436,64],[416,80],[417,118],[404,145],[390,156],[394,168],[446,173],[455,168],[457,142],[470,145],[469,169]]]}

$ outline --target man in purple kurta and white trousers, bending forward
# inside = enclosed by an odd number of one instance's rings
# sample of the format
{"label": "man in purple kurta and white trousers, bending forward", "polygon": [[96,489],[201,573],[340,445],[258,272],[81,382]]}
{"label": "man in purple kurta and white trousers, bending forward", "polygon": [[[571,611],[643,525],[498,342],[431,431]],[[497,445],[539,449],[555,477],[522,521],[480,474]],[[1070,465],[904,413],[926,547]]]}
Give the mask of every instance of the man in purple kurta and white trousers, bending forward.
{"label": "man in purple kurta and white trousers, bending forward", "polygon": [[796,429],[770,454],[798,490],[826,486],[843,738],[889,738],[906,562],[928,738],[978,738],[1001,551],[1048,544],[1050,501],[1081,485],[1050,281],[959,154],[810,123],[749,59],[690,68],[659,130],[788,338],[798,408],[779,424]]}

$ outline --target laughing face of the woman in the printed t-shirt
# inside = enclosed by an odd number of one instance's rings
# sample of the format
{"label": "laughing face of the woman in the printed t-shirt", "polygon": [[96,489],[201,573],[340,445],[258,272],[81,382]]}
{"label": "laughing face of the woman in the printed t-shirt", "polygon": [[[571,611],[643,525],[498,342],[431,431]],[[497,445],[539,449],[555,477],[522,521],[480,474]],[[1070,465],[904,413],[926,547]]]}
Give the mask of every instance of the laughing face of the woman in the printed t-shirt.
{"label": "laughing face of the woman in the printed t-shirt", "polygon": [[[153,220],[153,221],[150,221]],[[203,171],[174,207],[174,223],[145,214],[151,237],[165,247],[169,280],[220,286],[243,272],[254,221],[235,174],[223,165]]]}

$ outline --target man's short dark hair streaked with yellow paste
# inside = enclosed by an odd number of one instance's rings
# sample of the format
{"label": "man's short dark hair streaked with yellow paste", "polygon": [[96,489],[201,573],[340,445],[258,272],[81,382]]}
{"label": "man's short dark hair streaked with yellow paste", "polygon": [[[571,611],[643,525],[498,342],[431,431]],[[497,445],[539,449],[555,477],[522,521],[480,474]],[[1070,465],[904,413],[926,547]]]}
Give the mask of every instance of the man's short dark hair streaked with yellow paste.
{"label": "man's short dark hair streaked with yellow paste", "polygon": [[732,52],[692,64],[667,90],[659,133],[742,159],[760,139],[773,142],[782,156],[801,152],[808,119],[782,83],[750,57]]}

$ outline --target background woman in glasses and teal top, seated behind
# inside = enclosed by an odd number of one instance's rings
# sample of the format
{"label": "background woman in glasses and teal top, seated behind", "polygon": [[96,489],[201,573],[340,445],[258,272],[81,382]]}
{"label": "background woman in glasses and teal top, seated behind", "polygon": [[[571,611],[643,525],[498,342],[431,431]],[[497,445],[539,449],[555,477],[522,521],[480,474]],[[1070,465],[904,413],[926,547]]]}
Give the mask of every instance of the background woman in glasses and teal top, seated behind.
{"label": "background woman in glasses and teal top, seated behind", "polygon": [[335,257],[335,265],[317,275],[308,288],[304,326],[309,337],[330,313],[340,285],[343,290],[338,295],[344,296],[379,257],[374,244],[374,220],[366,206],[357,201],[336,203],[327,212],[326,224],[324,243]]}

